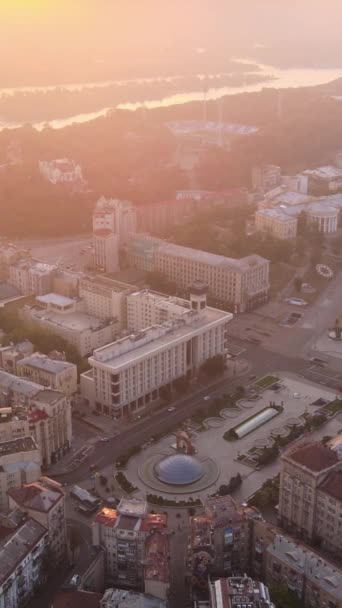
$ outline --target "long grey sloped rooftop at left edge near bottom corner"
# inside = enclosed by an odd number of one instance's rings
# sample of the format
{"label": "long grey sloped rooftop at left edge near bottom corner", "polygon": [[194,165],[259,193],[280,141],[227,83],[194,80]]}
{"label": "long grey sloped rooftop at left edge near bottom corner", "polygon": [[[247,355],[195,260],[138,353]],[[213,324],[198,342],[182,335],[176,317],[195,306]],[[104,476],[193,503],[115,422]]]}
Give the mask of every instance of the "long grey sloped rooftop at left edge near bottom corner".
{"label": "long grey sloped rooftop at left edge near bottom corner", "polygon": [[0,586],[47,534],[37,521],[28,519],[18,530],[0,543]]}

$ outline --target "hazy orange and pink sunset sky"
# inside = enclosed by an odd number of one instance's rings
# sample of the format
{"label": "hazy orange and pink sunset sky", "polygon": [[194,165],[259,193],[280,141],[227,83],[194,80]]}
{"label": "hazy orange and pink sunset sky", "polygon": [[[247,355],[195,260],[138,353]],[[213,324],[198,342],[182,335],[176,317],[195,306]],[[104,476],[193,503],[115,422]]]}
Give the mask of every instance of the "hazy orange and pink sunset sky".
{"label": "hazy orange and pink sunset sky", "polygon": [[341,22],[340,0],[0,0],[0,86],[167,70],[198,48],[342,67]]}

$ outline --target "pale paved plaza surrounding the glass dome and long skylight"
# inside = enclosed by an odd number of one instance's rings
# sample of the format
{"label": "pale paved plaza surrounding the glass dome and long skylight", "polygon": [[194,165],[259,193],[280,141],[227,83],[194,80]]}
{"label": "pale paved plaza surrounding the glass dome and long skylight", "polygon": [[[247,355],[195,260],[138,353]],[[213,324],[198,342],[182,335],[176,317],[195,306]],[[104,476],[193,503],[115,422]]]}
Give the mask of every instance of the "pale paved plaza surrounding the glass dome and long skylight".
{"label": "pale paved plaza surrounding the glass dome and long skylight", "polygon": [[[279,390],[265,390],[255,401],[242,400],[239,402],[239,410],[226,409],[221,416],[207,420],[204,425],[205,429],[201,432],[191,431],[196,457],[201,463],[211,463],[205,480],[201,480],[203,483],[200,481],[186,488],[183,487],[178,492],[178,487],[176,489],[154,479],[153,466],[159,459],[175,453],[175,435],[171,434],[158,443],[147,446],[137,456],[130,459],[125,474],[129,481],[138,488],[135,495],[157,491],[158,494],[175,500],[191,496],[204,498],[208,493],[216,492],[220,485],[229,483],[232,476],[240,473],[243,484],[237,494],[243,500],[260,487],[263,481],[275,475],[279,471],[279,459],[256,471],[237,461],[236,458],[250,448],[270,445],[272,436],[284,434],[284,429],[298,423],[298,418],[302,414],[317,411],[319,405],[313,404],[318,400],[329,402],[336,398],[333,390],[303,380],[294,374],[278,373],[277,376],[281,385]],[[271,402],[283,405],[284,409],[278,416],[237,441],[223,439],[223,434],[227,430],[260,412]],[[322,405],[322,401],[320,404]],[[333,435],[341,428],[342,422],[336,417],[323,425],[312,436]],[[214,468],[212,467],[213,462],[216,463]]]}

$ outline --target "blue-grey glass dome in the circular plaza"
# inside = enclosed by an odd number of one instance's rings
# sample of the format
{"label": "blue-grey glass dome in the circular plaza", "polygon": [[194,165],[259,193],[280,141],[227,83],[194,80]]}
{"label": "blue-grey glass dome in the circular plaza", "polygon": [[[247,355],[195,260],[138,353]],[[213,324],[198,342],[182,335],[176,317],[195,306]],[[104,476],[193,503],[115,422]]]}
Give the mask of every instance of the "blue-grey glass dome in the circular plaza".
{"label": "blue-grey glass dome in the circular plaza", "polygon": [[172,454],[154,466],[154,474],[164,483],[185,486],[201,479],[203,467],[193,456]]}

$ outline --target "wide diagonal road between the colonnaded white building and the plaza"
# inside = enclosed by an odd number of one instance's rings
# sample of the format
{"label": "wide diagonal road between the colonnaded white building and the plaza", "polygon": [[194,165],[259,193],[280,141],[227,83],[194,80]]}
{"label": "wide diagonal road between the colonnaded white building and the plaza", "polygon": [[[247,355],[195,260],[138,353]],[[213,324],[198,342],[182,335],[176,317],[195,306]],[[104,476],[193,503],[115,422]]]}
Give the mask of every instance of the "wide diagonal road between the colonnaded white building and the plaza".
{"label": "wide diagonal road between the colonnaded white building and the plaza", "polygon": [[[204,387],[195,396],[189,395],[175,403],[175,411],[167,412],[167,408],[159,410],[148,418],[142,419],[132,428],[127,429],[111,439],[107,443],[100,443],[95,446],[91,460],[70,473],[56,475],[59,481],[66,484],[75,484],[90,478],[89,465],[95,465],[98,470],[113,464],[122,454],[135,446],[140,446],[149,438],[159,433],[171,431],[180,425],[186,418],[194,414],[199,405],[203,403],[203,397],[210,394],[215,397],[224,392],[232,392],[234,386],[246,384],[248,376],[252,373],[257,376],[265,375],[272,371],[290,371],[309,367],[309,362],[297,357],[287,357],[286,355],[272,353],[263,350],[260,346],[249,345],[248,359],[251,362],[249,371],[238,376],[234,381],[227,378],[220,378],[210,389]],[[53,475],[51,475],[53,477]]]}

